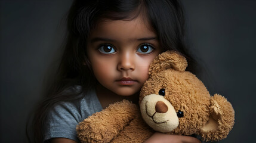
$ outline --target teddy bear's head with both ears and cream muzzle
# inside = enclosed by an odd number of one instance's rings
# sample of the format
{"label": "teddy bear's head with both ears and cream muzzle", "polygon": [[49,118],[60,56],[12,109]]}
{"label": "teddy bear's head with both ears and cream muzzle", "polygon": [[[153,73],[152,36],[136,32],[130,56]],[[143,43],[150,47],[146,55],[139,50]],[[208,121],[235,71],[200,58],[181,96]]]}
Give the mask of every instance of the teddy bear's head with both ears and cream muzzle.
{"label": "teddy bear's head with both ears and cream muzzle", "polygon": [[160,54],[150,64],[149,80],[140,92],[143,119],[158,132],[196,133],[206,141],[226,138],[235,119],[232,105],[221,95],[211,97],[186,67],[186,58],[175,51]]}

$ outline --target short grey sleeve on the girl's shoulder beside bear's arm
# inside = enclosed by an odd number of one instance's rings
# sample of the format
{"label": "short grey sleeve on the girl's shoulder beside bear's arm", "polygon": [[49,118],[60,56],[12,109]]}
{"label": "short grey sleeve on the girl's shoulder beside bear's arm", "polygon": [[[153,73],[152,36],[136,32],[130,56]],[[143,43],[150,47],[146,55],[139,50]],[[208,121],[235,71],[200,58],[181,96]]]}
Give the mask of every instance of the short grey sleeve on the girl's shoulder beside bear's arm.
{"label": "short grey sleeve on the girl's shoulder beside bear's arm", "polygon": [[62,103],[48,113],[44,126],[44,142],[51,138],[68,138],[76,142],[76,125],[81,121],[78,108],[72,103]]}

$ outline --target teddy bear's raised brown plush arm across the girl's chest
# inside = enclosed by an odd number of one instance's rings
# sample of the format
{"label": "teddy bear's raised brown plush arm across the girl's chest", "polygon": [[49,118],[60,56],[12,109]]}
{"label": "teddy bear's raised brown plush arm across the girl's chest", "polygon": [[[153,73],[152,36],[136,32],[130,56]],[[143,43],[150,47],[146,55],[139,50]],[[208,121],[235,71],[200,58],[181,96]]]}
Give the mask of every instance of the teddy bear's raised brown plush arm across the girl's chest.
{"label": "teddy bear's raised brown plush arm across the girl's chest", "polygon": [[139,114],[137,105],[124,100],[88,117],[76,127],[81,142],[110,142]]}

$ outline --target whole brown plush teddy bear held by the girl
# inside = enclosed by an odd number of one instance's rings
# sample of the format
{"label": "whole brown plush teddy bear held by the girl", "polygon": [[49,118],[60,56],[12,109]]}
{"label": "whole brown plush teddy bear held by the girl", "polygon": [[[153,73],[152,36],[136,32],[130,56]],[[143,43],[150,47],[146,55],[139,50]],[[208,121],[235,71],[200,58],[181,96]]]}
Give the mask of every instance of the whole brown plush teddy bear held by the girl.
{"label": "whole brown plush teddy bear held by the girl", "polygon": [[203,141],[226,138],[235,123],[232,104],[211,96],[186,67],[186,58],[176,51],[159,54],[150,64],[139,106],[124,100],[92,114],[76,127],[80,141],[143,142],[155,132],[196,134]]}

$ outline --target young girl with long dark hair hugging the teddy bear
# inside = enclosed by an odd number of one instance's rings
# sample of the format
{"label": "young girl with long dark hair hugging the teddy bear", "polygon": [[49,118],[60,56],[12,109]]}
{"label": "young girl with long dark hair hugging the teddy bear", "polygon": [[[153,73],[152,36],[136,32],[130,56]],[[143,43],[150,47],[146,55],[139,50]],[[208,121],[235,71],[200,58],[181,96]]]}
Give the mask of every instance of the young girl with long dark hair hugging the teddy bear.
{"label": "young girl with long dark hair hugging the teddy bear", "polygon": [[[161,52],[186,52],[176,0],[75,1],[56,80],[33,120],[33,142],[79,142],[76,125],[123,99],[138,101],[149,64]],[[191,71],[190,67],[190,71]],[[200,142],[155,133],[146,142]]]}

